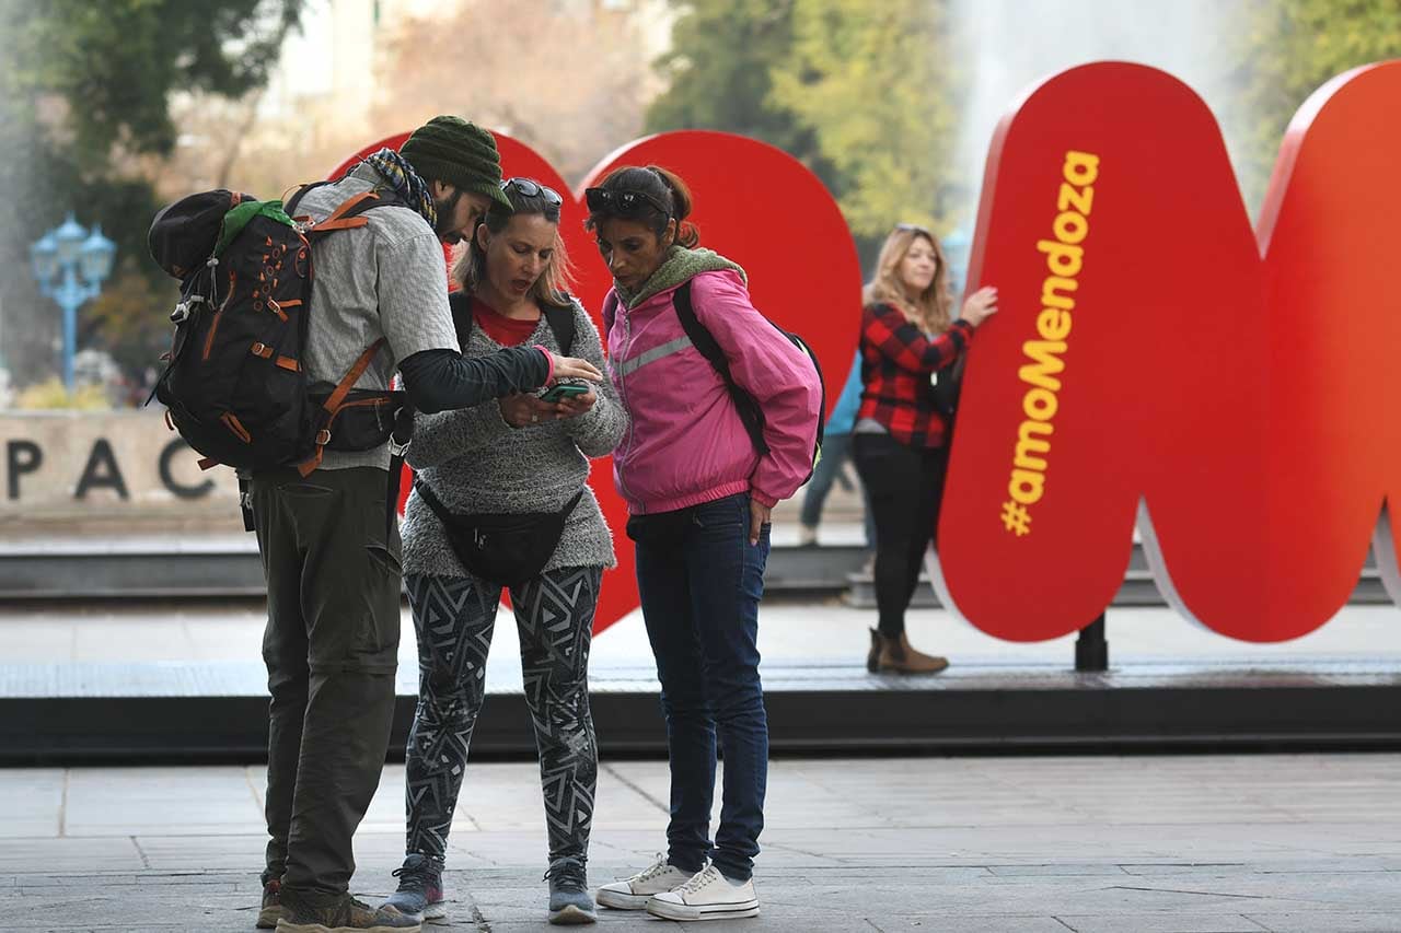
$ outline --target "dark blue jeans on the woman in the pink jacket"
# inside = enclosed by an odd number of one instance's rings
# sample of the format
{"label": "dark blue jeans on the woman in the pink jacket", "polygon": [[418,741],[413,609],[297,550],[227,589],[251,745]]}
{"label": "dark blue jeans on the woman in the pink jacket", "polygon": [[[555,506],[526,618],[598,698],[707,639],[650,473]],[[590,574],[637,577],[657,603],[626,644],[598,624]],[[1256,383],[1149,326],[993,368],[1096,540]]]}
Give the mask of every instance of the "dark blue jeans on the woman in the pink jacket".
{"label": "dark blue jeans on the woman in the pink jacket", "polygon": [[[706,857],[736,881],[754,873],[764,829],[769,723],[759,685],[759,598],[769,528],[750,545],[745,493],[628,523],[637,590],[661,681],[671,763],[670,862]],[[724,754],[720,828],[710,842],[716,738]]]}

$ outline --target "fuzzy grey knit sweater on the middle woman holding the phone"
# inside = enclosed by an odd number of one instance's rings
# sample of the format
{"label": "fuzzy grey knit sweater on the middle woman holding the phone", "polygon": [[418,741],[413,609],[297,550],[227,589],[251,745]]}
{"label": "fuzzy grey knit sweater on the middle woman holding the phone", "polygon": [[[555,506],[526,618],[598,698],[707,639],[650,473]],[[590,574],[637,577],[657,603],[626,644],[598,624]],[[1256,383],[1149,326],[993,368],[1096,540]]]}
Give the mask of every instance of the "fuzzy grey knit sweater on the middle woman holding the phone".
{"label": "fuzzy grey knit sweater on the middle woman holding the phone", "polygon": [[[562,352],[544,315],[527,343]],[[500,349],[481,326],[474,326],[462,354],[486,356]],[[570,356],[583,357],[600,370],[605,367],[598,329],[579,304],[574,304]],[[607,371],[594,394],[598,402],[579,417],[520,429],[502,419],[495,401],[455,412],[419,415],[408,451],[409,465],[454,513],[553,511],[584,488],[545,569],[616,566],[612,534],[586,483],[588,458],[612,452],[628,427],[628,413]],[[409,495],[402,534],[405,573],[468,576],[448,546],[437,516],[416,492]]]}

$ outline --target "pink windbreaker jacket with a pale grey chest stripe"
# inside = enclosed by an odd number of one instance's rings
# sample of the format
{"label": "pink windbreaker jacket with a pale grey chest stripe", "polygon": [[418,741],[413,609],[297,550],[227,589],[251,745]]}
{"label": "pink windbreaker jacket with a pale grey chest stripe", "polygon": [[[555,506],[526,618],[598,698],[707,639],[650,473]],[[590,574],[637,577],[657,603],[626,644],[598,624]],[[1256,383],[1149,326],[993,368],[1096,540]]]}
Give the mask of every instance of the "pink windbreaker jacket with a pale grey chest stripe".
{"label": "pink windbreaker jacket with a pale grey chest stripe", "polygon": [[630,426],[614,451],[614,479],[632,514],[685,509],[750,492],[773,507],[813,469],[821,388],[807,356],[750,303],[733,270],[691,279],[696,318],[730,361],[734,381],[764,408],[769,454],[754,450],[724,381],[691,343],[665,289],[628,310],[604,300],[612,381]]}

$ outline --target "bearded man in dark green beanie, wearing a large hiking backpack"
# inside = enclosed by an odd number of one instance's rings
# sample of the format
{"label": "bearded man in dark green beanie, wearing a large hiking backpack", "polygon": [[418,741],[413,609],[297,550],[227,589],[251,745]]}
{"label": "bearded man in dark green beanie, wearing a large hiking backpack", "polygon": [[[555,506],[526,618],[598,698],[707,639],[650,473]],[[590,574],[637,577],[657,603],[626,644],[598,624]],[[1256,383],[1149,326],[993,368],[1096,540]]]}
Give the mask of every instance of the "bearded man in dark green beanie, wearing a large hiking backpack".
{"label": "bearded man in dark green beanie, wearing a large hiking backpack", "polygon": [[[371,909],[349,894],[352,836],[380,783],[395,698],[401,542],[385,443],[399,399],[389,391],[395,368],[420,412],[468,408],[556,378],[601,378],[587,361],[544,347],[513,347],[475,360],[461,356],[440,242],[471,235],[486,206],[504,200],[500,182],[492,134],[455,116],[437,116],[401,151],[381,148],[342,181],[303,189],[286,214],[273,210],[282,221],[296,217],[308,245],[297,249],[294,241],[293,252],[279,251],[268,237],[266,255],[255,263],[266,266],[255,276],[252,307],[272,326],[273,317],[284,325],[298,312],[307,319],[300,360],[255,340],[251,352],[244,350],[248,364],[266,356],[269,380],[279,367],[300,368],[310,396],[325,398],[308,459],[248,471],[268,579],[263,660],[272,693],[266,799],[272,839],[259,927],[419,929],[392,908]],[[154,252],[156,228],[151,242]],[[263,248],[262,235],[254,245]],[[228,254],[237,251],[230,247]],[[214,294],[227,286],[233,297],[249,284],[235,266],[220,275],[226,277],[209,276]],[[293,275],[310,277],[310,314],[305,305],[294,307],[296,300],[273,298],[279,280]],[[228,301],[212,314],[207,331],[198,332],[196,360],[200,347],[209,359],[219,345],[219,318]],[[214,303],[206,304],[213,312]],[[181,353],[179,338],[174,353]],[[220,419],[192,419],[178,391],[167,389],[161,401],[188,436],[213,426],[245,444],[258,440],[258,430],[233,408]],[[406,419],[398,420],[402,426]],[[396,469],[403,438],[396,433],[389,440]]]}

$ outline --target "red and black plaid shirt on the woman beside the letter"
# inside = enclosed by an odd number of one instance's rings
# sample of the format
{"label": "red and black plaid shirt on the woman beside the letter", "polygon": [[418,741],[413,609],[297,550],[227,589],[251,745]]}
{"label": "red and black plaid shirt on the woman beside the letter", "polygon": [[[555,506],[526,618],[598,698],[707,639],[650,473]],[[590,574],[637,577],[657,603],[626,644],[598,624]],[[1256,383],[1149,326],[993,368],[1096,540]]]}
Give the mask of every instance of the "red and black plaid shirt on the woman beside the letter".
{"label": "red and black plaid shirt on the woman beside the letter", "polygon": [[862,310],[862,408],[890,436],[911,447],[943,447],[947,426],[934,410],[929,374],[953,366],[972,339],[962,318],[930,339],[898,308],[871,304]]}

